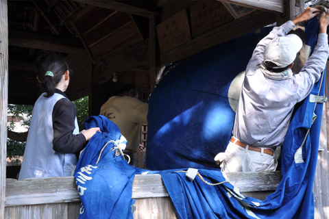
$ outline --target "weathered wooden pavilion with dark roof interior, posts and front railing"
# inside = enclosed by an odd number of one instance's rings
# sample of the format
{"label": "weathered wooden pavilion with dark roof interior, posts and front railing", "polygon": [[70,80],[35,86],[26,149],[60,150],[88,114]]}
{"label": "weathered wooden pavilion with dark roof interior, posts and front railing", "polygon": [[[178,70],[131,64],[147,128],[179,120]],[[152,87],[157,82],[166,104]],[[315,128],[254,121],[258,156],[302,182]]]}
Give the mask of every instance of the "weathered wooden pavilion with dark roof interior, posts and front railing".
{"label": "weathered wooden pavilion with dark roof interior, posts and front railing", "polygon": [[[77,218],[80,197],[73,177],[6,179],[8,104],[33,105],[38,97],[36,51],[62,53],[73,69],[66,94],[89,96],[89,114],[125,83],[147,101],[163,66],[260,27],[297,16],[304,0],[0,0],[0,218]],[[114,72],[118,82],[114,82]],[[328,81],[328,79],[327,79]],[[329,90],[326,89],[326,96]],[[315,217],[329,218],[327,129],[324,105],[315,176]],[[228,175],[243,194],[265,198],[280,172]],[[134,179],[134,218],[175,218],[160,175]]]}

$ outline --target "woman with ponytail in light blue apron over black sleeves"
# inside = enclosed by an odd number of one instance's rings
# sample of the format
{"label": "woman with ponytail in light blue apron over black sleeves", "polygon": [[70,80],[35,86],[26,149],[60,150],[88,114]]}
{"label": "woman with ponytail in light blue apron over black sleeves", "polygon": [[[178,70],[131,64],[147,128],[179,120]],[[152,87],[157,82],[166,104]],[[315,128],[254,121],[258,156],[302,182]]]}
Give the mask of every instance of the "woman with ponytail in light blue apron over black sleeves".
{"label": "woman with ponytail in light blue apron over black sleeves", "polygon": [[62,55],[40,51],[36,70],[44,92],[33,108],[19,179],[71,176],[76,154],[99,128],[79,133],[75,105],[64,94],[70,70]]}

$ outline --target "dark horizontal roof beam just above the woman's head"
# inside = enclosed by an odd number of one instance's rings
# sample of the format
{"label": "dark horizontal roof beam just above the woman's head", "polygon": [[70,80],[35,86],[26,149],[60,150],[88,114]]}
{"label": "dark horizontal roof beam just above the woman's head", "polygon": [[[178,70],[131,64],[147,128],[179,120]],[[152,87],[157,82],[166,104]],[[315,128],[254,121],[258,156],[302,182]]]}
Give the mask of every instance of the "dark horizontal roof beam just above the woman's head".
{"label": "dark horizontal roof beam just above the woman's head", "polygon": [[9,44],[16,47],[45,49],[69,54],[86,54],[79,38],[9,30]]}

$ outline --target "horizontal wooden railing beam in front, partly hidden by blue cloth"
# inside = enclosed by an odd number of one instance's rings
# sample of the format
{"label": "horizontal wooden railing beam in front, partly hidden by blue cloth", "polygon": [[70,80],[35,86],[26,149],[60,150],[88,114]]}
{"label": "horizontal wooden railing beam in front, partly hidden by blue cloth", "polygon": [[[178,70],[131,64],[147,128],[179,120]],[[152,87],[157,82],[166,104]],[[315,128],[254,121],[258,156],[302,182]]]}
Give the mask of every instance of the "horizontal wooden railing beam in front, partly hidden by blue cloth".
{"label": "horizontal wooden railing beam in front, partly hidden by blue cloth", "polygon": [[[228,172],[230,182],[240,192],[274,191],[281,180],[281,172]],[[136,175],[132,184],[132,198],[169,196],[161,176]],[[73,177],[7,179],[5,206],[40,205],[80,201]]]}

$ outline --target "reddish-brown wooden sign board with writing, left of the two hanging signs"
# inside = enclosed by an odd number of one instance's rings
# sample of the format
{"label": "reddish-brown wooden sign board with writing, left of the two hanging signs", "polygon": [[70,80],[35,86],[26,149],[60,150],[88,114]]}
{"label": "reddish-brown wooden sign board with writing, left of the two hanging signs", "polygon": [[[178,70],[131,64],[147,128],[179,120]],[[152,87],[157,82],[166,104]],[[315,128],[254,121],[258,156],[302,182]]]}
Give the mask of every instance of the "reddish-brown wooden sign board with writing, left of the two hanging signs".
{"label": "reddish-brown wooden sign board with writing, left of the two hanging signs", "polygon": [[191,40],[186,9],[156,26],[161,53]]}

